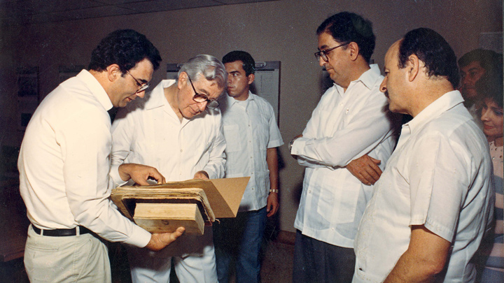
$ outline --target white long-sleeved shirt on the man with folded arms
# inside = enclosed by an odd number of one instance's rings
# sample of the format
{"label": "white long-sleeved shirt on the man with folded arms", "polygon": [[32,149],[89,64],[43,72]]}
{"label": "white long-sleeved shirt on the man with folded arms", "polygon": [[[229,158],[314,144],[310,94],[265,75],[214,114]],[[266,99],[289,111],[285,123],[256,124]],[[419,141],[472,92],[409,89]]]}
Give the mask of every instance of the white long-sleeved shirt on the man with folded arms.
{"label": "white long-sleeved shirt on the man with folded arms", "polygon": [[353,247],[360,217],[372,196],[367,186],[344,168],[368,154],[381,160],[381,170],[395,145],[383,80],[371,65],[346,92],[334,85],[323,94],[291,154],[305,166],[295,228],[316,240]]}

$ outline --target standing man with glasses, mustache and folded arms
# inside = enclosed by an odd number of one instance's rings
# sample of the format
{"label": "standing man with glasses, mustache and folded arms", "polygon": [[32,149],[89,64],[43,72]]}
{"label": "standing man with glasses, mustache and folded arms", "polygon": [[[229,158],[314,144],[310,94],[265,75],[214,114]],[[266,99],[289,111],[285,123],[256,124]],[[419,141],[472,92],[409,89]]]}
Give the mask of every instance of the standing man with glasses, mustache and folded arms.
{"label": "standing man with glasses, mustache and folded arms", "polygon": [[306,167],[294,226],[294,282],[350,282],[353,239],[372,184],[395,145],[383,76],[370,65],[372,24],[354,13],[318,27],[316,59],[334,85],[323,94],[290,154]]}

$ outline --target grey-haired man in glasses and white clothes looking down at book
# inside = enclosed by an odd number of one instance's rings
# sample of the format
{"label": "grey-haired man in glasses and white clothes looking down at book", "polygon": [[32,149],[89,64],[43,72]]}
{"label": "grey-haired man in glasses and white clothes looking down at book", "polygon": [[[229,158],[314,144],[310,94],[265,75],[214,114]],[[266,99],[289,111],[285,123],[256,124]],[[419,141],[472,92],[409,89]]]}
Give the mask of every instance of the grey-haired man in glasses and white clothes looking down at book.
{"label": "grey-haired man in glasses and white clothes looking down at book", "polygon": [[[227,80],[215,57],[189,59],[176,80],[162,80],[144,101],[118,112],[112,126],[112,164],[140,161],[158,168],[168,182],[224,177],[217,99]],[[217,282],[212,228],[179,240],[160,252],[129,248],[133,282],[169,282],[172,259],[180,282]]]}

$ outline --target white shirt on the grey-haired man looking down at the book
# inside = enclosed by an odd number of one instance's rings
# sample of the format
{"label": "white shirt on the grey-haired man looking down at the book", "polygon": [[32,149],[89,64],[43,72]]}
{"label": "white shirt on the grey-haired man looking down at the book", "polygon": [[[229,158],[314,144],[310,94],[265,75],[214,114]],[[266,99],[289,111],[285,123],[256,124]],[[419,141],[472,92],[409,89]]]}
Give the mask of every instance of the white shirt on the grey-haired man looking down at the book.
{"label": "white shirt on the grey-haired man looking down at the book", "polygon": [[153,166],[169,182],[193,179],[200,170],[210,179],[224,177],[221,113],[207,109],[181,122],[164,92],[174,83],[162,80],[148,97],[119,110],[112,126],[112,164]]}

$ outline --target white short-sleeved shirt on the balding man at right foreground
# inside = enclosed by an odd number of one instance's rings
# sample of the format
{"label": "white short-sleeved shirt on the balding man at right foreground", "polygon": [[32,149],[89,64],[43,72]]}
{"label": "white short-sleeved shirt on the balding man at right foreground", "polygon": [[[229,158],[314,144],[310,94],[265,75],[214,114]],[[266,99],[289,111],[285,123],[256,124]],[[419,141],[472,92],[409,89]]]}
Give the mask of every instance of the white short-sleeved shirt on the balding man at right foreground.
{"label": "white short-sleeved shirt on the balding man at right foreground", "polygon": [[472,282],[470,259],[493,215],[488,143],[458,91],[402,126],[398,145],[360,222],[354,282],[383,282],[412,225],[452,243],[444,282]]}

